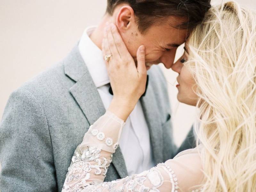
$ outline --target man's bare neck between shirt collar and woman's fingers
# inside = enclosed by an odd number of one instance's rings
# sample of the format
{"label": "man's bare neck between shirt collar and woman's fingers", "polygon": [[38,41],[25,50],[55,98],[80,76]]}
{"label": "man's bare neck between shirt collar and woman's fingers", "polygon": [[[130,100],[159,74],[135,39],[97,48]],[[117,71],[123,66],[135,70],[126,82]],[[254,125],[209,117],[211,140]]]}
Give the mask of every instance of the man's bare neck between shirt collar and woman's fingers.
{"label": "man's bare neck between shirt collar and woman's fingers", "polygon": [[92,40],[92,42],[100,49],[104,35],[104,28],[107,22],[111,22],[111,17],[109,15],[105,15],[102,18],[100,25],[90,35],[90,39]]}

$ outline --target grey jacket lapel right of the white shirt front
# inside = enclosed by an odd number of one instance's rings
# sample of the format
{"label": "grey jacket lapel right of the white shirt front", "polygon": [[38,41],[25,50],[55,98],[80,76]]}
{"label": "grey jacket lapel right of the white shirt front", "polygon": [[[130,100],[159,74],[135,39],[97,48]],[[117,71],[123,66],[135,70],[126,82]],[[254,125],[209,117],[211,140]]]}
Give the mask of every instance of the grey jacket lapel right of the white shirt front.
{"label": "grey jacket lapel right of the white shirt front", "polygon": [[155,163],[163,163],[164,141],[162,123],[160,118],[161,116],[159,114],[159,111],[157,110],[157,99],[156,95],[154,94],[152,84],[150,84],[150,76],[147,93],[144,97],[141,97],[140,101],[149,128],[150,141],[152,145]]}

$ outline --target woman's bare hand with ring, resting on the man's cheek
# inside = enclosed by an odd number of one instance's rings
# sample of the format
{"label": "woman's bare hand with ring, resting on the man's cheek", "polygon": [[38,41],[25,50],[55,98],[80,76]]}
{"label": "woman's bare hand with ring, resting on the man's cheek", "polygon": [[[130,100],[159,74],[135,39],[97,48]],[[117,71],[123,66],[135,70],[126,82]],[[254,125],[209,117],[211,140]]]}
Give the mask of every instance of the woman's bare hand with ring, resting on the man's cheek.
{"label": "woman's bare hand with ring, resting on the man's cheek", "polygon": [[108,25],[102,41],[103,56],[112,55],[106,61],[113,100],[108,108],[126,121],[141,95],[145,92],[147,69],[145,66],[145,47],[137,51],[137,67],[128,52],[116,25]]}

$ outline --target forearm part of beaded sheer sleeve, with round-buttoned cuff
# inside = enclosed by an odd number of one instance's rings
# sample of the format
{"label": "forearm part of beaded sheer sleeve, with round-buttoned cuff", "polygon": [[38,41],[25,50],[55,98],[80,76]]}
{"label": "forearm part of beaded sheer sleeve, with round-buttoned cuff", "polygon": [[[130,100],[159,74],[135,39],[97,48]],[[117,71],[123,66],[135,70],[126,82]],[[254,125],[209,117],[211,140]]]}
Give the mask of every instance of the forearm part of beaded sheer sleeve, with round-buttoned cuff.
{"label": "forearm part of beaded sheer sleeve, with round-buttoned cuff", "polygon": [[[112,162],[112,153],[118,147],[123,126],[124,121],[109,111],[90,126],[83,142],[74,152],[63,192],[81,191],[90,185],[103,182]],[[110,137],[113,132],[116,133],[114,139]]]}

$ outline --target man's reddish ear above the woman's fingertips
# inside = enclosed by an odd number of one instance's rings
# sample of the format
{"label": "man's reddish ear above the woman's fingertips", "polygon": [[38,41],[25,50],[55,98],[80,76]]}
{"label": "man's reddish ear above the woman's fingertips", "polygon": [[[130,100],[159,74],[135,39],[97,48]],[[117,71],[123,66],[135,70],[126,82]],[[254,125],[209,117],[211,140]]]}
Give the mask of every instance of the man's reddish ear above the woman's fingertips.
{"label": "man's reddish ear above the woman's fingertips", "polygon": [[116,17],[117,28],[125,32],[127,29],[131,28],[132,24],[135,23],[134,11],[130,6],[123,6],[119,10]]}

